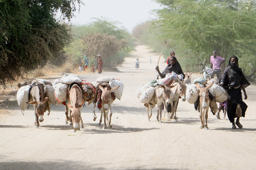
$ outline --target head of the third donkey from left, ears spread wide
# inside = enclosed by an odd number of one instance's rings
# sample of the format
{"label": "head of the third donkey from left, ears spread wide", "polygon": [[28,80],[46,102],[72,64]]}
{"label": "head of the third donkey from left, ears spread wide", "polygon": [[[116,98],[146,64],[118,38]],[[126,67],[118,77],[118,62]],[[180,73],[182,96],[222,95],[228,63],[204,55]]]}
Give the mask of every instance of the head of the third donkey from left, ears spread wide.
{"label": "head of the third donkey from left, ears spread wide", "polygon": [[109,107],[109,104],[110,104],[110,101],[111,101],[111,92],[116,91],[119,87],[120,86],[114,87],[114,88],[111,88],[109,90],[107,87],[102,87],[101,85],[99,85],[99,88],[102,91],[101,105],[102,105],[104,111],[107,111],[107,108]]}

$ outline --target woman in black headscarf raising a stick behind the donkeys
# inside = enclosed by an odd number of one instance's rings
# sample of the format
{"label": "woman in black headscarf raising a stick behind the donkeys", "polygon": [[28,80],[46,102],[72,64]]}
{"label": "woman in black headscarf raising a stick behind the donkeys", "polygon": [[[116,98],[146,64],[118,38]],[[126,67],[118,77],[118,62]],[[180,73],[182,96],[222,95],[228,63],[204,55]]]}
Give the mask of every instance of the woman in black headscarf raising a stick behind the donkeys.
{"label": "woman in black headscarf raising a stick behind the donkeys", "polygon": [[[165,78],[165,75],[168,73],[171,73],[171,72],[175,72],[176,74],[182,74],[183,77],[185,78],[185,74],[183,73],[183,71],[181,69],[181,65],[179,64],[178,60],[174,56],[170,57],[170,64],[167,67],[165,67],[165,70],[162,73],[159,71],[158,66],[156,66],[155,69],[157,70],[157,72],[161,78]],[[174,101],[173,101],[173,104],[174,104]],[[178,104],[179,104],[179,99],[177,102],[177,106],[178,106]],[[167,105],[167,112],[171,112],[171,104]]]}

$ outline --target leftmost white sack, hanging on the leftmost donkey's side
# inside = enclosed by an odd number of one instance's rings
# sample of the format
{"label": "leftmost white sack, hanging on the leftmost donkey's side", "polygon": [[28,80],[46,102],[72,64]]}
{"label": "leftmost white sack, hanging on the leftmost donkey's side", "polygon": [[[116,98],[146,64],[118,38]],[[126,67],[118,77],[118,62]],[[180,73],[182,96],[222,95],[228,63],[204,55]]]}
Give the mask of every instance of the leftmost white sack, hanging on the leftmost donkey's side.
{"label": "leftmost white sack, hanging on the leftmost donkey's side", "polygon": [[25,111],[29,102],[29,88],[30,85],[22,86],[17,92],[17,102],[21,110]]}

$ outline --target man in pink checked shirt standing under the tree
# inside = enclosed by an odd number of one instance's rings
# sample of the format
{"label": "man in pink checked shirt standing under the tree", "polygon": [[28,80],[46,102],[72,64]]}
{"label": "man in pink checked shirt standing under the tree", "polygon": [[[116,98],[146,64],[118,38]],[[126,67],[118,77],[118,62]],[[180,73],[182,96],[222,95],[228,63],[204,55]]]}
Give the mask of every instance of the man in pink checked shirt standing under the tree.
{"label": "man in pink checked shirt standing under the tree", "polygon": [[213,51],[213,56],[211,56],[211,69],[213,69],[213,75],[211,78],[214,78],[214,74],[217,75],[218,80],[221,78],[221,65],[225,62],[225,58],[217,56],[217,52]]}

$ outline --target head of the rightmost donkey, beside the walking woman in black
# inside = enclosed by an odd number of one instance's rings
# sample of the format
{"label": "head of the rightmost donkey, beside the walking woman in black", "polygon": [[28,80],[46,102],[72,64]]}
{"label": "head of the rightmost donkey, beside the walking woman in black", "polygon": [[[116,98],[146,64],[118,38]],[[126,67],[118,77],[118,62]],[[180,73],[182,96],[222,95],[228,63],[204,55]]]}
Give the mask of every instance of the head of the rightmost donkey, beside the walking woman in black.
{"label": "head of the rightmost donkey, beside the walking woman in black", "polygon": [[209,106],[209,104],[210,104],[210,98],[209,98],[208,90],[211,88],[213,83],[214,82],[209,84],[207,87],[201,87],[197,83],[195,83],[197,88],[200,90],[200,92],[199,92],[199,101],[200,101],[200,104],[202,104],[203,109],[206,109],[207,106]]}

